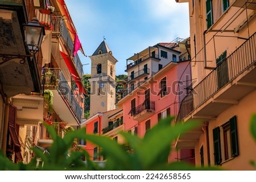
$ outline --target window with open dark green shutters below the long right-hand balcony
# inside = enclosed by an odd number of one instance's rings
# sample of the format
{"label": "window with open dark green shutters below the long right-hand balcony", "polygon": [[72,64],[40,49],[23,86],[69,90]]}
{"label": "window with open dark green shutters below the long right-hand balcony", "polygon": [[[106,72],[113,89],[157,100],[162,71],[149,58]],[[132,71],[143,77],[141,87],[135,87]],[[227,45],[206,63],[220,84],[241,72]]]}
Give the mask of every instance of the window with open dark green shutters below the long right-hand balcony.
{"label": "window with open dark green shutters below the long right-hand balcony", "polygon": [[[221,164],[224,160],[238,156],[237,119],[236,116],[229,119],[224,125],[213,129],[214,163]],[[221,138],[223,137],[223,138]],[[222,140],[221,140],[222,139]],[[223,146],[224,148],[221,148]],[[223,152],[223,156],[221,155]]]}

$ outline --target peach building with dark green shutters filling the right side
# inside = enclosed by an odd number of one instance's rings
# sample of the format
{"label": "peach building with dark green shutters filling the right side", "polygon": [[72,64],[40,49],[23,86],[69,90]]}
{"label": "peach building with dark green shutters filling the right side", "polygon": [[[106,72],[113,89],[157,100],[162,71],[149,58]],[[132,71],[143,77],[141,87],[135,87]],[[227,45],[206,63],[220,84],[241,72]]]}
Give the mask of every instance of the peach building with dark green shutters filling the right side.
{"label": "peach building with dark green shutters filling the right side", "polygon": [[256,144],[249,123],[256,113],[256,1],[188,2],[192,79],[177,120],[204,126],[176,140],[194,148],[196,166],[253,170]]}

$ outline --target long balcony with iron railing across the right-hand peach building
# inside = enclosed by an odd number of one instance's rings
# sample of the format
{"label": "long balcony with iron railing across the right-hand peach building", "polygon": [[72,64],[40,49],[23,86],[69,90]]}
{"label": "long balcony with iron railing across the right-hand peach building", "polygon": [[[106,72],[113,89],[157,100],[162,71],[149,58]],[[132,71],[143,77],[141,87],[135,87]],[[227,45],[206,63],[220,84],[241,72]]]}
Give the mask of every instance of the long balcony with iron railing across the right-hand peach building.
{"label": "long balcony with iron railing across the right-hand peach building", "polygon": [[[181,101],[177,121],[195,118],[208,122],[255,90],[255,49],[256,34],[223,60]],[[198,139],[200,133],[195,134],[197,136],[194,135],[194,138]],[[192,142],[185,142],[189,138],[189,133],[183,135],[177,140],[176,146],[193,147]]]}

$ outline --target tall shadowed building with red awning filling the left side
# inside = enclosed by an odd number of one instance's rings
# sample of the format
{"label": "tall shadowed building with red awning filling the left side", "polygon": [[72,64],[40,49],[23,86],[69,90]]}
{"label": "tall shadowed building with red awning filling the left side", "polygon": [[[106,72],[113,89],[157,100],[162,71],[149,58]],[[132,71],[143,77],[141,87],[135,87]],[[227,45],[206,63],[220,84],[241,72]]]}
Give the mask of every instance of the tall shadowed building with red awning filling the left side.
{"label": "tall shadowed building with red awning filling the left side", "polygon": [[[42,123],[62,136],[84,118],[86,91],[77,55],[82,47],[64,1],[3,0],[0,5],[0,146],[13,162],[28,163],[31,147],[53,142]],[[38,47],[25,38],[29,31],[23,24],[31,20],[42,28]]]}

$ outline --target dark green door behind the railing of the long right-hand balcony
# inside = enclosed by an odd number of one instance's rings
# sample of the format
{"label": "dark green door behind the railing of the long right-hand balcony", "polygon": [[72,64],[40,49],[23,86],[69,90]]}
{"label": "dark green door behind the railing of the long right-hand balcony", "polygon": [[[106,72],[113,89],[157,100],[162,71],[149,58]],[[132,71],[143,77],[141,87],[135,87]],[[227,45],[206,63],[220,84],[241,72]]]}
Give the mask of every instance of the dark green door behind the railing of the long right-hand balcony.
{"label": "dark green door behind the railing of the long right-hand balcony", "polygon": [[222,53],[220,57],[216,60],[217,64],[217,81],[218,81],[218,89],[222,88],[222,86],[226,85],[229,81],[229,72],[228,72],[228,63],[226,61],[226,51]]}

